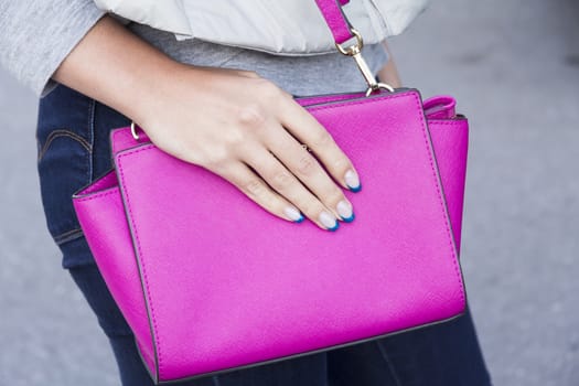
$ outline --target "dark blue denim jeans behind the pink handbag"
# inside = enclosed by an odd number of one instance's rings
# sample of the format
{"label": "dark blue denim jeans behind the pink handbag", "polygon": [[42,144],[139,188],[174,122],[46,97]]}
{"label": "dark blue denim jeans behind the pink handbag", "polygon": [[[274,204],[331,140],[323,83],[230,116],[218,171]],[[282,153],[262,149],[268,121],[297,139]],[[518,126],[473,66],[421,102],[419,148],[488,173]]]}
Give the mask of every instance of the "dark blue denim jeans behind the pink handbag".
{"label": "dark blue denim jeans behind the pink handbag", "polygon": [[[78,226],[71,195],[111,168],[108,133],[130,120],[65,86],[40,101],[39,174],[49,230],[115,353],[122,385],[152,385]],[[469,312],[451,322],[175,385],[490,385]]]}

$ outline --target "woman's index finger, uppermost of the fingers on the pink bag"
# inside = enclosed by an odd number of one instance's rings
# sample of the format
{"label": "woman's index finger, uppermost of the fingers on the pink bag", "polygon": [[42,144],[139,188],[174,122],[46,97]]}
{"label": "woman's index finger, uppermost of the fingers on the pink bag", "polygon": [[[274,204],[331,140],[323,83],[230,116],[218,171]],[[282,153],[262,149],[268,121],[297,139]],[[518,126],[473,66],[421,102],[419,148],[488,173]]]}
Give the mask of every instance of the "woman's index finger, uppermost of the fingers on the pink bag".
{"label": "woman's index finger, uppermost of the fingers on the pink bag", "polygon": [[352,161],[335,143],[332,135],[296,100],[290,98],[286,100],[287,103],[278,110],[281,125],[312,150],[343,187],[357,192],[361,189],[358,174]]}

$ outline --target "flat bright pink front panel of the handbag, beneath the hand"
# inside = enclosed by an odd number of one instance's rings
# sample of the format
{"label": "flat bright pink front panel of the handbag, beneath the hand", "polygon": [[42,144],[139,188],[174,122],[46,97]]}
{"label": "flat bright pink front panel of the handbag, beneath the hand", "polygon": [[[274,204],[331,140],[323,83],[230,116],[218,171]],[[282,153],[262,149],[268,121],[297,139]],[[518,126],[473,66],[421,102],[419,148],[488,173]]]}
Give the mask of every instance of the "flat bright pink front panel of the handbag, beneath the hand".
{"label": "flat bright pink front panel of the handbag, beneath the hand", "polygon": [[419,96],[385,99],[310,108],[352,158],[364,186],[345,192],[356,221],[336,233],[274,217],[221,176],[153,146],[117,156],[160,379],[353,342],[463,311]]}

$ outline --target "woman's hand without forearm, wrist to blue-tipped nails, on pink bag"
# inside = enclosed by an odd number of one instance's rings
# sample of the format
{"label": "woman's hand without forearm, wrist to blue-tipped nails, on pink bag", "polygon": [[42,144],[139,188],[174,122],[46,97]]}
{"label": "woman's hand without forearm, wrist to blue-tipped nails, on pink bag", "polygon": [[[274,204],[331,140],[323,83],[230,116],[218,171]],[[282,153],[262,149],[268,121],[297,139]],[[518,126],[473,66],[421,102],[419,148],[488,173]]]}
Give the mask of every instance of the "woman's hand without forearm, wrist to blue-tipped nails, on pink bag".
{"label": "woman's hand without forearm, wrist to blue-tipped nails, on pink bag", "polygon": [[352,219],[340,189],[352,162],[290,94],[253,72],[191,66],[159,87],[137,122],[160,149],[223,176],[279,217],[301,221],[301,212],[330,229]]}

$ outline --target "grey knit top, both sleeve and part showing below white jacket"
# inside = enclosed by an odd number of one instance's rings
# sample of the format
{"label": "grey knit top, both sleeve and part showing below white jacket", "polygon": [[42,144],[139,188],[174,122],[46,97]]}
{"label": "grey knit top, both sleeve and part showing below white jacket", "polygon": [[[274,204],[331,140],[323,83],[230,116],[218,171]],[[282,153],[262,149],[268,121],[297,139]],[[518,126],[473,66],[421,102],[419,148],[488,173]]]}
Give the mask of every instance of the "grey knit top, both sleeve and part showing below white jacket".
{"label": "grey knit top, both sleeve and part showing below white jacket", "polygon": [[[66,55],[105,14],[92,0],[0,1],[0,65],[37,96]],[[182,63],[256,71],[293,95],[365,89],[354,61],[340,53],[281,56],[197,39],[178,41],[172,33],[139,23],[128,29]],[[376,73],[386,62],[382,44],[364,46]]]}

